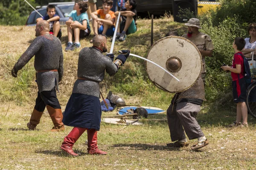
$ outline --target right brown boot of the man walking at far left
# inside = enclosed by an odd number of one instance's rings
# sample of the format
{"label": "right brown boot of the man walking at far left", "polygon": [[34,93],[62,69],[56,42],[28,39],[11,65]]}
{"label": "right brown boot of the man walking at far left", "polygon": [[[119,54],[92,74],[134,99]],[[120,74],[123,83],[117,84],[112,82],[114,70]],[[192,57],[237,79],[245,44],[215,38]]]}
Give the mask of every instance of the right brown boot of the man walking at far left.
{"label": "right brown boot of the man walking at far left", "polygon": [[49,112],[49,115],[52,119],[54,127],[50,131],[52,132],[58,132],[65,130],[64,124],[62,123],[63,115],[61,112],[61,109],[55,109],[52,108],[49,105],[46,105],[47,111]]}

